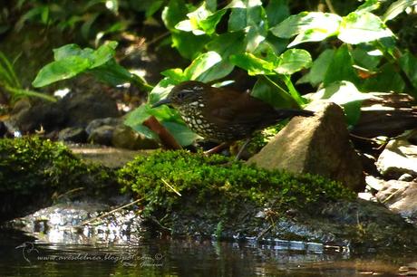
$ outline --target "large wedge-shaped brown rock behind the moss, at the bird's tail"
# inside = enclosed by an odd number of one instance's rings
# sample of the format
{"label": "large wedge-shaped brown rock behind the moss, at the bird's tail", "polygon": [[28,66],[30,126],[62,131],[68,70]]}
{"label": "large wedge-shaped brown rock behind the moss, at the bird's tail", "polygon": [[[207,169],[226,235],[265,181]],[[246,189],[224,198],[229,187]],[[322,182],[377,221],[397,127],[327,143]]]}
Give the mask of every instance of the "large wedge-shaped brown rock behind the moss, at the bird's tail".
{"label": "large wedge-shaped brown rock behind the moss, at the bird's tail", "polygon": [[248,163],[296,174],[317,174],[355,191],[362,190],[363,167],[349,140],[343,110],[335,103],[313,105],[308,109],[316,111],[315,117],[291,119]]}

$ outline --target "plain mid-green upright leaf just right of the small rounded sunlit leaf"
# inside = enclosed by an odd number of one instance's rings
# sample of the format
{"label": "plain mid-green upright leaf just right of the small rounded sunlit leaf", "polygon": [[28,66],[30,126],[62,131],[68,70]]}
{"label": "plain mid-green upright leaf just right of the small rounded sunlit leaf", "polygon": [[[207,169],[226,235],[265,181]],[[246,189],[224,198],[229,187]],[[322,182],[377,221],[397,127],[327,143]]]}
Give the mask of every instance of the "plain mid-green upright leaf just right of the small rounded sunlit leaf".
{"label": "plain mid-green upright leaf just right of the small rounded sunlit leaf", "polygon": [[315,62],[313,62],[313,66],[311,67],[310,72],[305,74],[303,78],[297,81],[297,83],[309,82],[312,86],[317,86],[319,83],[325,80],[325,72],[332,62],[333,57],[335,55],[334,49],[326,49],[323,53],[321,53]]}

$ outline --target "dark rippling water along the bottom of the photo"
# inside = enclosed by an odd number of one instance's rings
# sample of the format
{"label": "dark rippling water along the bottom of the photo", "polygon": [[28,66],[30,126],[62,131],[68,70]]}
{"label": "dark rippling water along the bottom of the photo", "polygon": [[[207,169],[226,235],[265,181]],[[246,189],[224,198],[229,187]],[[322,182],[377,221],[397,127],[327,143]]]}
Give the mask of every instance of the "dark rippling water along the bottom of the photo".
{"label": "dark rippling water along the bottom of the photo", "polygon": [[417,276],[417,253],[308,252],[267,244],[143,238],[130,245],[42,244],[0,233],[0,276]]}

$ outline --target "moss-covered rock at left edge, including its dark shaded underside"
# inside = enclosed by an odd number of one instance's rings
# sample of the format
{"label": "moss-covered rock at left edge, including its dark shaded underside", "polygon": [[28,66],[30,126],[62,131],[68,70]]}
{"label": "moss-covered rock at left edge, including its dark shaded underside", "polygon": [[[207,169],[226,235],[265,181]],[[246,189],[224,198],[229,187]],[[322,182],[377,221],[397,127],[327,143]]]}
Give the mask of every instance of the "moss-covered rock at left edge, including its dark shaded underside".
{"label": "moss-covered rock at left edge, including its dark shaded underside", "polygon": [[62,143],[0,139],[0,221],[50,205],[53,196],[73,189],[94,195],[114,179],[112,171],[86,164]]}

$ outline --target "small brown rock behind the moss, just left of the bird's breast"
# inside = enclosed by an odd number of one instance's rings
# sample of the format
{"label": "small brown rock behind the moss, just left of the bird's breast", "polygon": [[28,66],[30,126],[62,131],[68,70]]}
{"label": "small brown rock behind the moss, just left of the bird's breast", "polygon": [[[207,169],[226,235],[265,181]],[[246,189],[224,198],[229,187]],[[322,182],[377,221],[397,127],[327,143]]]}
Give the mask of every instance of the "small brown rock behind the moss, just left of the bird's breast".
{"label": "small brown rock behind the moss, just left of the bird's breast", "polygon": [[114,129],[112,146],[127,149],[155,149],[159,144],[154,139],[148,139],[143,134],[135,132],[130,127],[121,125]]}

